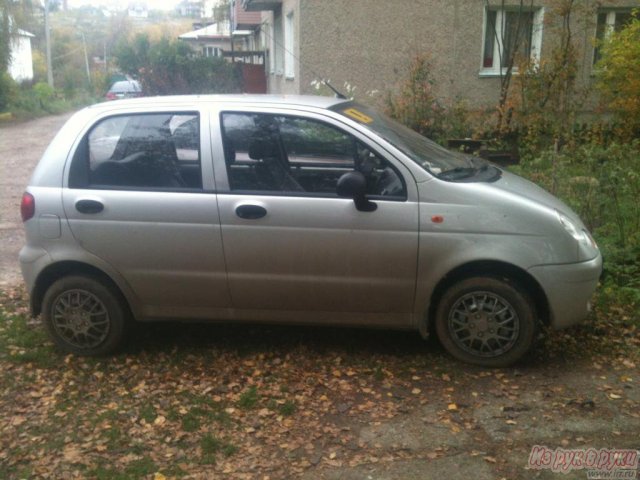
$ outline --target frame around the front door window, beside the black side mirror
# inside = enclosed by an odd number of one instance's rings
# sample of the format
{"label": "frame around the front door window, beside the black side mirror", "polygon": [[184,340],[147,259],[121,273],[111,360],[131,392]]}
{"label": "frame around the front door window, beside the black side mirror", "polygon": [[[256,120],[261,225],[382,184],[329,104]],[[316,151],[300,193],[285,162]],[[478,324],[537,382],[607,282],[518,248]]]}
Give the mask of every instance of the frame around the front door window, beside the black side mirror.
{"label": "frame around the front door window, beside the black side mirror", "polygon": [[[322,192],[299,192],[299,191],[294,191],[294,190],[234,190],[231,187],[231,182],[229,180],[229,170],[228,170],[228,163],[227,163],[227,151],[228,151],[228,145],[227,145],[227,135],[225,134],[225,127],[224,127],[224,121],[223,121],[223,116],[225,114],[232,114],[232,115],[269,115],[269,116],[273,116],[273,117],[286,117],[286,118],[293,118],[293,119],[301,119],[301,120],[306,120],[306,121],[310,121],[310,122],[317,122],[320,124],[324,124],[329,128],[333,128],[335,130],[338,130],[342,133],[344,133],[345,135],[348,135],[349,137],[353,138],[356,141],[359,141],[360,143],[362,143],[366,148],[368,148],[372,153],[374,153],[377,157],[379,157],[380,159],[382,159],[383,161],[385,161],[389,167],[391,167],[393,169],[393,171],[395,172],[395,174],[398,176],[398,178],[400,179],[400,181],[402,182],[402,187],[403,187],[403,191],[404,191],[404,196],[400,197],[400,196],[385,196],[385,195],[366,195],[366,198],[369,200],[375,200],[375,201],[389,201],[389,202],[408,202],[411,194],[410,194],[410,189],[409,189],[409,184],[407,179],[405,178],[406,175],[410,176],[410,173],[407,172],[406,174],[403,174],[401,169],[398,168],[398,166],[396,165],[396,162],[391,161],[389,159],[389,155],[388,154],[382,154],[380,153],[380,148],[377,147],[373,147],[372,146],[372,142],[370,139],[364,137],[363,135],[361,135],[359,132],[354,131],[352,128],[350,128],[348,125],[344,124],[343,122],[336,122],[336,121],[332,121],[334,120],[331,117],[316,117],[316,116],[307,116],[304,115],[305,112],[284,112],[284,111],[280,111],[280,110],[262,110],[262,109],[234,109],[232,107],[229,108],[221,108],[218,112],[217,112],[217,117],[218,117],[218,128],[219,128],[219,134],[220,134],[220,144],[222,147],[222,163],[223,163],[223,171],[225,172],[226,175],[226,189],[224,191],[222,190],[218,190],[218,193],[224,193],[227,195],[253,195],[253,196],[271,196],[271,197],[301,197],[301,198],[328,198],[328,199],[338,199],[338,198],[344,198],[344,197],[340,197],[338,196],[337,193],[322,193]],[[401,163],[401,162],[400,162]],[[346,172],[345,172],[346,173]]]}

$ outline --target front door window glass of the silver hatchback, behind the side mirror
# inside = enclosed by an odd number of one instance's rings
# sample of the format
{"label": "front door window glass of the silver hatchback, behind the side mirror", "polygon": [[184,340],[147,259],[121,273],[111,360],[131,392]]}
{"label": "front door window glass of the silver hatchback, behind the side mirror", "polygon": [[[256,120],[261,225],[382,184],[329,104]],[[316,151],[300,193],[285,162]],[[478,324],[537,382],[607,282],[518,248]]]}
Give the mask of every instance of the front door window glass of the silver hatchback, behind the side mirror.
{"label": "front door window glass of the silver hatchback, behind the side mirror", "polygon": [[317,120],[223,113],[225,163],[232,191],[335,196],[338,179],[358,170],[372,197],[406,199],[391,164],[352,135]]}

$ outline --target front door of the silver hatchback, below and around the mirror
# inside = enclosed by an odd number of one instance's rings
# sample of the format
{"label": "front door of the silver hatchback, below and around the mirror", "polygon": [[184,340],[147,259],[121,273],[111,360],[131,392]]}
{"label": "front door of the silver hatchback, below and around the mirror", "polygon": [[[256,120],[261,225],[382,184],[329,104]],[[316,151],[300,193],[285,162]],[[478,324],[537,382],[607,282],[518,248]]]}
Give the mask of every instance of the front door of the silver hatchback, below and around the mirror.
{"label": "front door of the silver hatchback, below and around the mirror", "polygon": [[[295,312],[305,311],[339,323],[336,312],[360,312],[370,323],[409,322],[418,255],[410,173],[321,116],[236,110],[220,112],[214,128],[218,122],[214,136],[222,141],[213,144],[224,157],[216,180],[233,306],[255,319],[297,321]],[[365,174],[375,211],[336,195],[338,178],[354,169]]]}

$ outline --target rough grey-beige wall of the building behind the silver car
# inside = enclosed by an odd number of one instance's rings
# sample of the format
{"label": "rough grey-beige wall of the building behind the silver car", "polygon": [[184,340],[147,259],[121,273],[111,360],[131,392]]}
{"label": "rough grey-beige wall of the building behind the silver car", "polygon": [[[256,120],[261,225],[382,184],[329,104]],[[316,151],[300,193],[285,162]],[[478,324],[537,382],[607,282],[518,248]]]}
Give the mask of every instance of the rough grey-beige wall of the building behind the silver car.
{"label": "rough grey-beige wall of the building behind the silver car", "polygon": [[[533,0],[544,7],[544,61],[556,43],[559,19],[554,0]],[[492,6],[501,1],[490,0]],[[506,2],[517,5],[519,1]],[[525,4],[529,4],[527,0]],[[596,11],[602,7],[640,6],[640,0],[581,0],[572,17],[580,52],[580,81],[592,82]],[[381,103],[406,77],[416,54],[431,57],[436,93],[445,101],[464,98],[472,108],[495,105],[500,78],[481,75],[485,2],[483,0],[283,0],[275,21],[293,10],[296,20],[294,79],[269,75],[273,93],[316,93],[313,83],[330,79],[339,90],[345,83],[353,95]],[[273,22],[272,13],[263,19]],[[270,73],[270,72],[268,72]],[[346,92],[348,93],[348,92]]]}

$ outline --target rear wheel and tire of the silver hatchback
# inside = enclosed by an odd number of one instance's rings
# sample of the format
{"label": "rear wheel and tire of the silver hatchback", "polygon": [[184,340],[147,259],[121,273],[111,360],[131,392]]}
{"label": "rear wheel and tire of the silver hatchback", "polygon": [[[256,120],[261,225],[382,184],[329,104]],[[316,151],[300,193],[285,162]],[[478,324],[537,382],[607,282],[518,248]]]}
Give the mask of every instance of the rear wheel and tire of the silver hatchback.
{"label": "rear wheel and tire of the silver hatchback", "polygon": [[56,347],[76,355],[112,353],[124,341],[129,309],[114,287],[89,276],[55,281],[44,295],[44,324]]}

